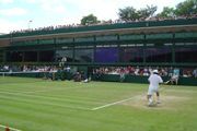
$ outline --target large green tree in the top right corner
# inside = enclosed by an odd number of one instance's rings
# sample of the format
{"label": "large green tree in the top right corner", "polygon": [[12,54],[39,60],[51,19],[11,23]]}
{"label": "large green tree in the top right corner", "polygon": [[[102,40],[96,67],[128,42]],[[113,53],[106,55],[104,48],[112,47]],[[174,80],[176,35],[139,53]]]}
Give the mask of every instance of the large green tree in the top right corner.
{"label": "large green tree in the top right corner", "polygon": [[174,13],[177,16],[192,15],[197,13],[197,0],[186,0],[176,5]]}

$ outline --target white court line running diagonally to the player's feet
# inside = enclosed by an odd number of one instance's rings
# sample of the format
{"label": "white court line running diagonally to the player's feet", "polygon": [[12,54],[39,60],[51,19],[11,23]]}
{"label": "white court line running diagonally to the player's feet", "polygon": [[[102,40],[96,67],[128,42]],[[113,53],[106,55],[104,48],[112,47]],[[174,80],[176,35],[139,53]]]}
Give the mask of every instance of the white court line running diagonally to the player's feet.
{"label": "white court line running diagonally to the player's feet", "polygon": [[[162,91],[162,90],[164,90],[164,88],[160,87],[160,91]],[[144,93],[140,94],[140,95],[132,96],[130,98],[126,98],[126,99],[123,99],[123,100],[118,100],[118,102],[114,102],[114,103],[106,104],[106,105],[103,105],[103,106],[99,106],[99,107],[92,108],[91,110],[97,110],[97,109],[106,108],[106,107],[109,107],[109,106],[113,106],[113,105],[116,105],[116,104],[125,103],[125,102],[128,102],[128,100],[134,99],[135,97],[139,97],[139,96],[144,96]]]}

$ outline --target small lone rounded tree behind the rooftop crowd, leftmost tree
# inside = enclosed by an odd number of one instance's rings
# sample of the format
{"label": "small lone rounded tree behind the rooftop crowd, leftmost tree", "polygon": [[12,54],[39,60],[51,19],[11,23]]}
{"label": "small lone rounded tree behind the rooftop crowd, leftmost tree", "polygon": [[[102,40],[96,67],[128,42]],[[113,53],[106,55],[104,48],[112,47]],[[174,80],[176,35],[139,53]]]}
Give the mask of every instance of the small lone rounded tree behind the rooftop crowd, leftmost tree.
{"label": "small lone rounded tree behind the rooftop crowd, leftmost tree", "polygon": [[96,16],[94,16],[93,14],[89,14],[86,16],[83,16],[83,19],[81,20],[81,24],[82,25],[86,25],[86,24],[96,24],[100,21],[97,20]]}

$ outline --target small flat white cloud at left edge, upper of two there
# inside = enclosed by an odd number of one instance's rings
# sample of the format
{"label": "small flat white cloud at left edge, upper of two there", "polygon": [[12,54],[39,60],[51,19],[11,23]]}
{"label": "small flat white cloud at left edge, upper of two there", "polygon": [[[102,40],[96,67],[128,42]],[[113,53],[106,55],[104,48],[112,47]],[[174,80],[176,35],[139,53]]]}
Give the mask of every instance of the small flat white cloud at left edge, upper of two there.
{"label": "small flat white cloud at left edge, upper of two there", "polygon": [[2,15],[24,15],[24,14],[26,14],[26,11],[24,9],[20,9],[20,8],[3,9],[3,10],[0,10],[0,14],[2,14]]}

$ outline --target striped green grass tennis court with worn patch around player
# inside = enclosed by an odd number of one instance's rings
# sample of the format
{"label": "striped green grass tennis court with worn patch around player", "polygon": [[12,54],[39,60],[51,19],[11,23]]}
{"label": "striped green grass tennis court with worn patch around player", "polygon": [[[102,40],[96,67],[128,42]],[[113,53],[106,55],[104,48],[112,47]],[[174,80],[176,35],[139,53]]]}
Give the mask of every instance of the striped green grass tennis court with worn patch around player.
{"label": "striped green grass tennis court with worn patch around player", "polygon": [[[22,131],[196,131],[197,86],[0,78],[0,124]],[[0,129],[0,131],[3,129]]]}

